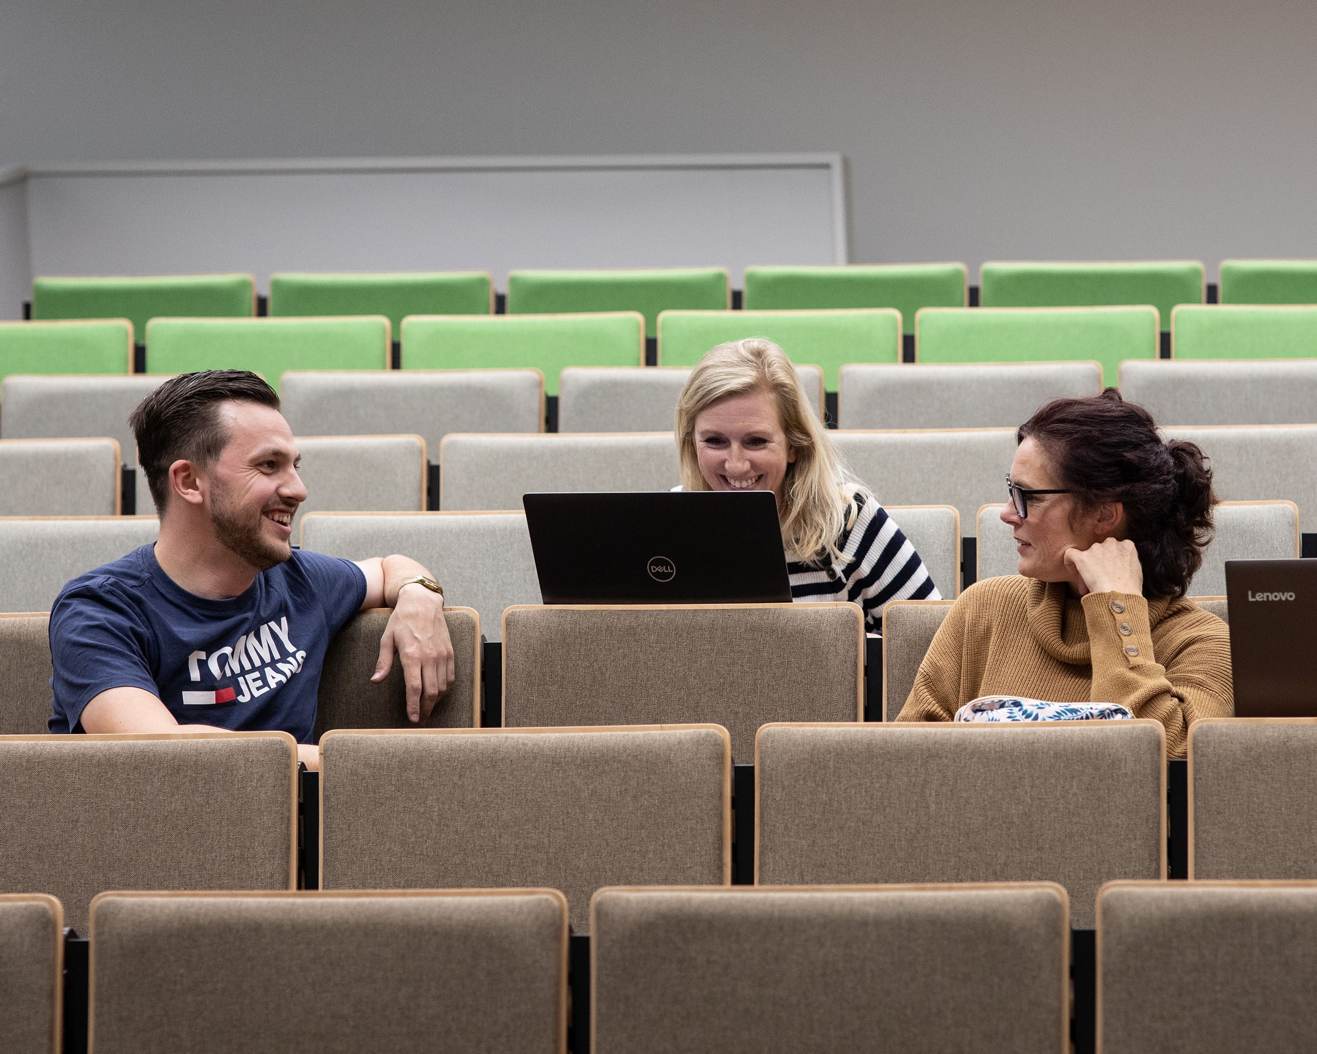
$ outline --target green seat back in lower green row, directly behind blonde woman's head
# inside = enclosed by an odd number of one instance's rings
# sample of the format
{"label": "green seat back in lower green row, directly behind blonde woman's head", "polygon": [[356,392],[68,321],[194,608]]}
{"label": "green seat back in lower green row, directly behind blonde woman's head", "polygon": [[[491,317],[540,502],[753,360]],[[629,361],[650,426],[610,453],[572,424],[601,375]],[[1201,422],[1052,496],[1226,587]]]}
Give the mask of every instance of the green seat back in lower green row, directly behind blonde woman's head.
{"label": "green seat back in lower green row, directly behind blonde woman's head", "polygon": [[793,362],[823,368],[823,387],[836,391],[847,362],[900,362],[901,315],[856,311],[664,311],[658,316],[658,365],[694,366],[716,344],[766,337]]}

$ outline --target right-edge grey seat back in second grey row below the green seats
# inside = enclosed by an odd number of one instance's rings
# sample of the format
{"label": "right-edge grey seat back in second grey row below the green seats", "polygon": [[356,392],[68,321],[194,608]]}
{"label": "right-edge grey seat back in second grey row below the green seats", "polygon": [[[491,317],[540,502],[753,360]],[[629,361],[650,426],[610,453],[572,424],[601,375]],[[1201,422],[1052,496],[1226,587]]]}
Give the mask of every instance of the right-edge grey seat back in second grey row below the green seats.
{"label": "right-edge grey seat back in second grey row below the green seats", "polygon": [[1217,497],[1231,502],[1291,501],[1303,531],[1317,531],[1317,424],[1258,428],[1163,428],[1197,443],[1212,458]]}

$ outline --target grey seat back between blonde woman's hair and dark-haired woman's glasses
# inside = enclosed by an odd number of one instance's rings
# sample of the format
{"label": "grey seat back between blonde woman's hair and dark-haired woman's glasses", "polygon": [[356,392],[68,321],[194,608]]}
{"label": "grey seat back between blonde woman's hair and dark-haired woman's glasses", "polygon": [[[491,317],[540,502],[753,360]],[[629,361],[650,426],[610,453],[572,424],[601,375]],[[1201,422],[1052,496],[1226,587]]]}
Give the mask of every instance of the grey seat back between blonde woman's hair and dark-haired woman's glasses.
{"label": "grey seat back between blonde woman's hair and dark-haired woman's glasses", "polygon": [[981,505],[1000,502],[1015,456],[1014,428],[831,432],[849,469],[888,505],[954,505],[972,535]]}

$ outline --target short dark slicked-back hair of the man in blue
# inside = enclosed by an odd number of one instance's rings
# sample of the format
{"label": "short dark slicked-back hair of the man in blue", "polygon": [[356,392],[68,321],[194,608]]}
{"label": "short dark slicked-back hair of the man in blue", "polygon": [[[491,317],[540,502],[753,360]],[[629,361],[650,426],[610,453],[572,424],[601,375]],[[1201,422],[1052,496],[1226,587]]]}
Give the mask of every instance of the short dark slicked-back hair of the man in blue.
{"label": "short dark slicked-back hair of the man in blue", "polygon": [[155,511],[165,513],[169,468],[175,461],[209,465],[229,441],[220,423],[224,402],[279,408],[279,397],[249,370],[202,370],[171,377],[128,415],[137,437],[137,464],[146,473]]}

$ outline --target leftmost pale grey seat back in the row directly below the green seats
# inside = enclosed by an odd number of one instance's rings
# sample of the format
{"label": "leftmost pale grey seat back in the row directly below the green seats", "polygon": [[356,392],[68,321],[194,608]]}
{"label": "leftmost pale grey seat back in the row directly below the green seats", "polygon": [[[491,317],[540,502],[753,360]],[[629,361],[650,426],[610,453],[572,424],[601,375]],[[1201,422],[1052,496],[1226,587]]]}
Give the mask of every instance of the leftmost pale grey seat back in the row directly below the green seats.
{"label": "leftmost pale grey seat back in the row directly below the green seats", "polygon": [[[167,374],[12,375],[0,381],[0,437],[65,439],[109,436],[119,440],[125,465],[137,464],[137,439],[128,415],[169,379]],[[140,507],[138,511],[148,511]]]}

